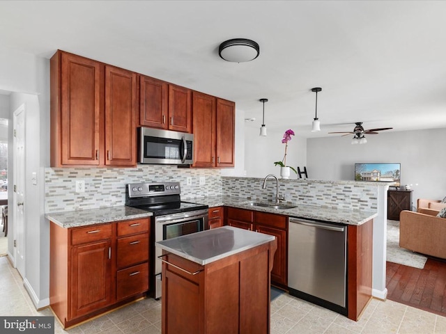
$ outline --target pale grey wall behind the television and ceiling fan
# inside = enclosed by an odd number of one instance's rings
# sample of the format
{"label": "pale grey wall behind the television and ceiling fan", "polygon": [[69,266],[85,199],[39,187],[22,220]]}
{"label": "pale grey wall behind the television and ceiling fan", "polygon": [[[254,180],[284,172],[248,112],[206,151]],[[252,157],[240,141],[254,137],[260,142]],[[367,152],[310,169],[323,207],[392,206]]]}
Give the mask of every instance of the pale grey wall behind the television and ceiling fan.
{"label": "pale grey wall behind the television and ceiling fan", "polygon": [[412,184],[417,198],[446,196],[446,129],[381,132],[367,144],[351,145],[349,136],[307,140],[307,169],[319,180],[353,180],[355,163],[399,162],[401,184]]}

